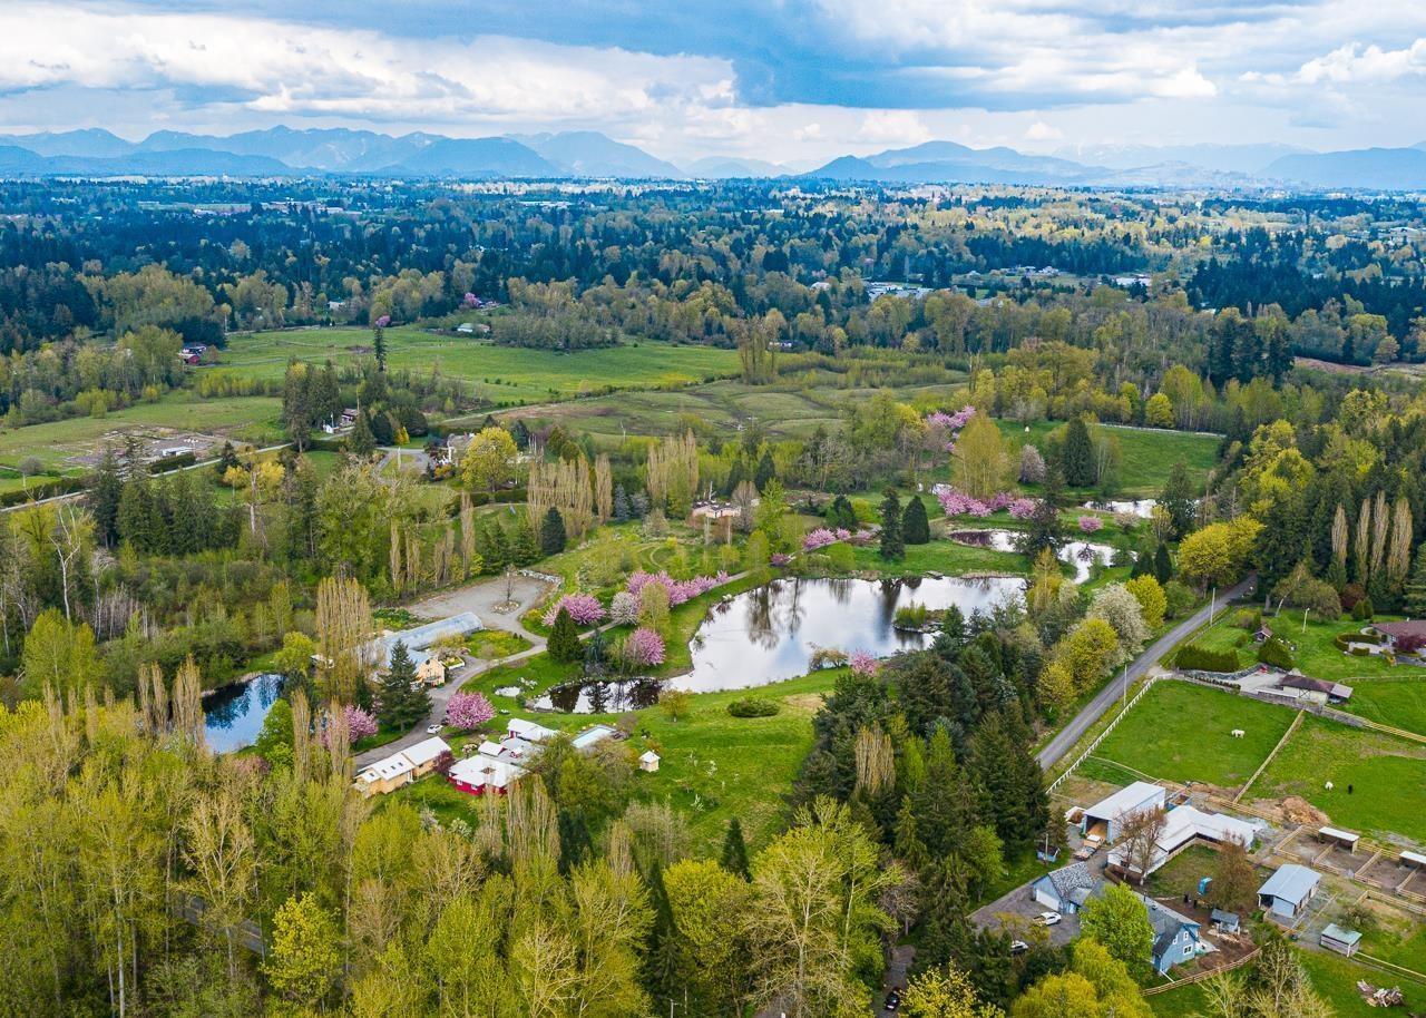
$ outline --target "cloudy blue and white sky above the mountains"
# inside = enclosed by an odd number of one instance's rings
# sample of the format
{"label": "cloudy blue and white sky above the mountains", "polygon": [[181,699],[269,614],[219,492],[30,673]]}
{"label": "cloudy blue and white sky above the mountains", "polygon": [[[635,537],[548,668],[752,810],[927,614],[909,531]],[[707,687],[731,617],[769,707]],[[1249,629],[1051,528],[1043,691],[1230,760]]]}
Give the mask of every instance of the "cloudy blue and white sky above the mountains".
{"label": "cloudy blue and white sky above the mountains", "polygon": [[1410,145],[1423,86],[1416,0],[0,0],[0,133],[599,130],[806,168]]}

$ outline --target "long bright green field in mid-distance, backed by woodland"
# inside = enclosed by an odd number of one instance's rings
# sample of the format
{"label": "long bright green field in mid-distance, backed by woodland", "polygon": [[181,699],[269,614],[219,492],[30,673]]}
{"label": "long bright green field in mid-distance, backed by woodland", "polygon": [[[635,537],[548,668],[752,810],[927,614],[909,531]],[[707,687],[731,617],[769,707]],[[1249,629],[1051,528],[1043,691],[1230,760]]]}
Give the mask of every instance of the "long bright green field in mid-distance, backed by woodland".
{"label": "long bright green field in mid-distance, backed by woodland", "polygon": [[[279,379],[292,358],[337,365],[369,359],[371,342],[371,329],[365,328],[241,334],[230,336],[220,364],[240,375]],[[739,371],[736,351],[655,342],[560,354],[495,346],[405,325],[386,329],[386,364],[394,371],[425,375],[439,369],[475,382],[482,398],[508,405],[568,399],[606,388],[687,385]]]}

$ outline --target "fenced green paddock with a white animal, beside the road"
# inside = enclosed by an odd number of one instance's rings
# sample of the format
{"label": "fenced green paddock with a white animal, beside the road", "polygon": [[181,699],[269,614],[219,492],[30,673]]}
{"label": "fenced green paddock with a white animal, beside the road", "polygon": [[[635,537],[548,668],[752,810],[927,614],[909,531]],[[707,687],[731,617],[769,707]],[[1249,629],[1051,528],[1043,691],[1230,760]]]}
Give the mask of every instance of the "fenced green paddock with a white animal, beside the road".
{"label": "fenced green paddock with a white animal, beside the road", "polygon": [[[1268,759],[1292,717],[1285,707],[1164,679],[1099,743],[1095,756],[1156,778],[1233,788]],[[1242,729],[1243,737],[1233,739],[1233,729]]]}

